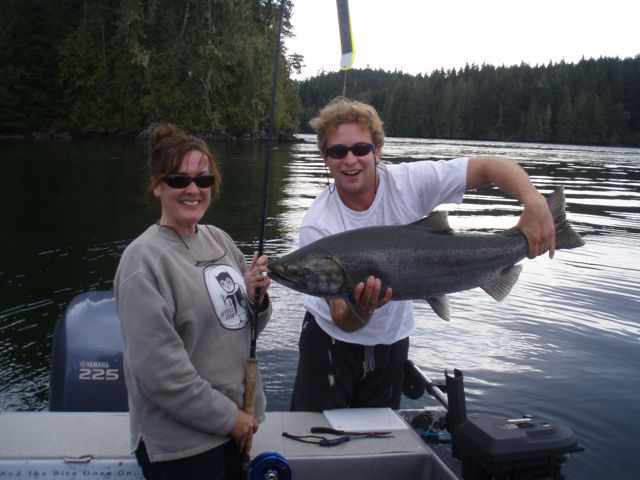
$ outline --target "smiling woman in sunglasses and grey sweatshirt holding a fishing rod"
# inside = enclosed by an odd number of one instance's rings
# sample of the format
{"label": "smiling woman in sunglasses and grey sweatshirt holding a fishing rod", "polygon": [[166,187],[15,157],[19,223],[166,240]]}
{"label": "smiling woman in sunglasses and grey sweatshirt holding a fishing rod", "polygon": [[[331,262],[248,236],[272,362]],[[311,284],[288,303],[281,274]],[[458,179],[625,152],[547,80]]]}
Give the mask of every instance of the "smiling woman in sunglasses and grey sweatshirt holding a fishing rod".
{"label": "smiling woman in sunglasses and grey sweatshirt holding a fishing rod", "polygon": [[225,232],[198,223],[221,180],[204,141],[161,125],[150,145],[160,218],[114,280],[132,450],[148,479],[238,478],[265,411],[259,375],[255,415],[242,407],[256,292],[258,332],[271,316],[267,257],[247,266]]}

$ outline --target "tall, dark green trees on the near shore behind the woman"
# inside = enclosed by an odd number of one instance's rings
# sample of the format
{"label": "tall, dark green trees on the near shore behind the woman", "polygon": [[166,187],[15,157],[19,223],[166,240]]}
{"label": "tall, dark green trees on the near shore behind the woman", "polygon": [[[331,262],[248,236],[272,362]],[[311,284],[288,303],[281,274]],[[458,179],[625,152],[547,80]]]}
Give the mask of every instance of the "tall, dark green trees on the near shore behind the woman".
{"label": "tall, dark green trees on the near shore behind the woman", "polygon": [[[285,2],[283,36],[290,36]],[[9,0],[0,16],[0,129],[137,133],[171,121],[220,138],[267,123],[276,0]],[[300,103],[281,52],[277,131]]]}

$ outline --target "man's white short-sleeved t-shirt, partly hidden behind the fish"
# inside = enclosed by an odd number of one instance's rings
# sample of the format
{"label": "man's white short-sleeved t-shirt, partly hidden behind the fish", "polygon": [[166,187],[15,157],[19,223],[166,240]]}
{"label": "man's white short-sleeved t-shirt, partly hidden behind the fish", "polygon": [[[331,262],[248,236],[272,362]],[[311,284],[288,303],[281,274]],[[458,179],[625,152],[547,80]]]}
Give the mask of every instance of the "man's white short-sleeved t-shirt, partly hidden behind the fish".
{"label": "man's white short-sleeved t-shirt, partly hidden behind the fish", "polygon": [[[300,247],[354,228],[415,222],[443,203],[460,203],[467,184],[467,157],[378,165],[380,183],[375,200],[364,212],[342,203],[333,186],[313,201],[300,227]],[[331,337],[360,345],[390,345],[413,330],[411,300],[392,301],[378,308],[369,323],[345,332],[331,319],[325,299],[307,295],[304,306]]]}

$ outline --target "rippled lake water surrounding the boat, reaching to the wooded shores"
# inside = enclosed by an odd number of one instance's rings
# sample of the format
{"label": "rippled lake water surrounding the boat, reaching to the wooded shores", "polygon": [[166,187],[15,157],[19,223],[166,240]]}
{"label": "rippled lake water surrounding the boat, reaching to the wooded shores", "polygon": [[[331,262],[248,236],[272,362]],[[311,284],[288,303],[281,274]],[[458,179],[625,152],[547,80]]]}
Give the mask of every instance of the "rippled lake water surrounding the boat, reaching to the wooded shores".
{"label": "rippled lake water surrounding the boat, reaching to the wooded shores", "polygon": [[[265,251],[296,248],[326,185],[313,137],[274,151]],[[205,220],[247,256],[257,248],[264,147],[213,144],[223,194]],[[534,414],[570,426],[585,446],[570,479],[632,478],[640,439],[640,150],[391,138],[390,163],[507,155],[549,193],[564,185],[567,215],[586,245],[523,261],[497,303],[479,289],[450,296],[451,321],[415,303],[410,358],[436,381],[464,372],[469,414]],[[120,254],[152,218],[145,145],[135,141],[0,142],[0,410],[47,408],[56,320],[78,293],[108,290]],[[520,207],[495,189],[449,210],[455,230],[515,225]],[[269,410],[286,410],[297,362],[302,295],[273,284],[275,314],[258,341]],[[404,399],[404,407],[424,402]],[[6,439],[5,439],[6,440]]]}

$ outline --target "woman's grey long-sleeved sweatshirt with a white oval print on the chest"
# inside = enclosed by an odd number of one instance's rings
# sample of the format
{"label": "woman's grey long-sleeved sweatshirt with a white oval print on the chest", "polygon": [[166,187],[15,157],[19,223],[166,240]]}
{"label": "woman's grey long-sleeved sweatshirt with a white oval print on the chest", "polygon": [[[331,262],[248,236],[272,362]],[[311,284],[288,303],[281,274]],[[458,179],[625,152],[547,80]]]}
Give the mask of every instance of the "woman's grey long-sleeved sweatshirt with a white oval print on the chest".
{"label": "woman's grey long-sleeved sweatshirt with a white oval print on the chest", "polygon": [[[243,406],[250,322],[233,240],[213,226],[178,235],[152,225],[124,251],[114,280],[124,337],[131,448],[152,462],[228,441]],[[259,313],[258,332],[271,316]],[[264,419],[260,375],[254,416]]]}

